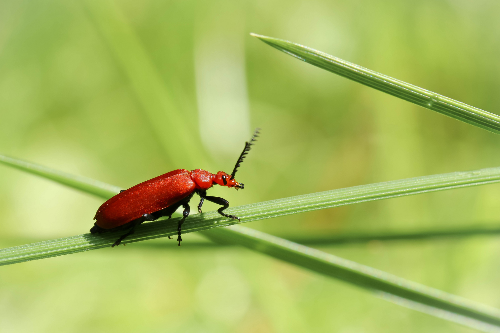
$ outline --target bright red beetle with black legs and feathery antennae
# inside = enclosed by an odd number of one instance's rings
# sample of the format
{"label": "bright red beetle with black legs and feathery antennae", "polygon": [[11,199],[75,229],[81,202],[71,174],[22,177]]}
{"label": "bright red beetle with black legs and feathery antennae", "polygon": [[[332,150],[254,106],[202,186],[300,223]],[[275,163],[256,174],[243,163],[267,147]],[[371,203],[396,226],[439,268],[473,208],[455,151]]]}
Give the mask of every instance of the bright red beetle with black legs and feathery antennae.
{"label": "bright red beetle with black legs and feathery antennae", "polygon": [[201,169],[192,171],[177,169],[146,180],[128,190],[121,190],[119,194],[99,207],[94,217],[96,222],[92,229],[90,229],[90,233],[100,234],[107,231],[130,229],[114,242],[112,245],[114,247],[120,244],[125,237],[133,234],[135,227],[142,222],[154,221],[162,216],[170,218],[173,212],[182,206],[184,211],[177,227],[177,241],[180,246],[180,242],[182,241],[180,226],[189,215],[188,203],[194,193],[200,197],[198,212],[201,213],[201,205],[203,205],[203,201],[206,199],[222,206],[217,210],[220,215],[239,221],[237,216],[227,215],[222,212],[229,207],[227,200],[207,196],[206,190],[212,187],[213,184],[234,187],[236,190],[244,188],[244,184],[234,180],[234,175],[240,163],[243,162],[245,155],[248,154],[253,141],[258,137],[258,130],[259,128],[255,130],[249,142],[245,142],[243,152],[239,155],[238,161],[230,175],[223,171],[212,174]]}

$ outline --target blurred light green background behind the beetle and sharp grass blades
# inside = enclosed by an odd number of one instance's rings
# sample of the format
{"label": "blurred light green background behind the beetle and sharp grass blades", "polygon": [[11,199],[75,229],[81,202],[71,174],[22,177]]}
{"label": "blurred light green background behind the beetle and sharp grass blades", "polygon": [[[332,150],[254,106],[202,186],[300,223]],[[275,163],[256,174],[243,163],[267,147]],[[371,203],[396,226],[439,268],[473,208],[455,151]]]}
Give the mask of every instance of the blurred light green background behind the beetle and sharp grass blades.
{"label": "blurred light green background behind the beetle and sharp grass blades", "polygon": [[[499,166],[500,136],[248,35],[498,113],[499,12],[492,0],[2,0],[0,152],[125,189],[176,168],[230,172],[261,127],[236,177],[245,189],[210,190],[231,206]],[[102,203],[5,166],[0,189],[1,247],[85,233]],[[498,222],[499,184],[246,226],[314,237]],[[0,332],[473,332],[249,250],[183,238],[180,248],[161,239],[1,267]],[[500,308],[498,237],[321,249]]]}

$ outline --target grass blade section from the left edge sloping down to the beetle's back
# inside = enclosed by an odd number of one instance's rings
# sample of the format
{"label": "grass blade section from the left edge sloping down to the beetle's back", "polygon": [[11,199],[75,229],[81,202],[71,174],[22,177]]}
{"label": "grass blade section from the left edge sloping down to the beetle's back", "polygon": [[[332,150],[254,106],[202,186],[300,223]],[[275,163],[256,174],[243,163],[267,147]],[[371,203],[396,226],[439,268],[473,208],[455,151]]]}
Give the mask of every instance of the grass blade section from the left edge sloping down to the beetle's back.
{"label": "grass blade section from the left edge sloping down to the beetle's back", "polygon": [[119,191],[121,190],[121,188],[117,186],[99,182],[98,180],[82,176],[74,176],[69,173],[50,169],[39,164],[25,162],[4,155],[0,155],[0,163],[41,176],[43,178],[53,180],[57,183],[96,195],[104,199],[111,198],[112,196],[116,195],[116,193],[119,193]]}

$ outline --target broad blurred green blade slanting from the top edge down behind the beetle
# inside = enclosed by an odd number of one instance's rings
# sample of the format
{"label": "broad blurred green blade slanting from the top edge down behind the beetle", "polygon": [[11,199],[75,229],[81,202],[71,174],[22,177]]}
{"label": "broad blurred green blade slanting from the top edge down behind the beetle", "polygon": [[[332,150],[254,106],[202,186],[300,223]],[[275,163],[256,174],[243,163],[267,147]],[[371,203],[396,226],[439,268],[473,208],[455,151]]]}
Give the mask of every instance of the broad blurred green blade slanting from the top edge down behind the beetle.
{"label": "broad blurred green blade slanting from the top edge down behind the beetle", "polygon": [[[180,103],[158,74],[135,31],[113,0],[83,0],[90,18],[126,75],[159,142],[174,165],[194,169],[204,152]],[[182,143],[182,144],[180,144]],[[188,148],[186,148],[188,147]],[[195,159],[193,157],[196,157]]]}

